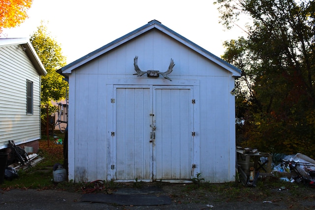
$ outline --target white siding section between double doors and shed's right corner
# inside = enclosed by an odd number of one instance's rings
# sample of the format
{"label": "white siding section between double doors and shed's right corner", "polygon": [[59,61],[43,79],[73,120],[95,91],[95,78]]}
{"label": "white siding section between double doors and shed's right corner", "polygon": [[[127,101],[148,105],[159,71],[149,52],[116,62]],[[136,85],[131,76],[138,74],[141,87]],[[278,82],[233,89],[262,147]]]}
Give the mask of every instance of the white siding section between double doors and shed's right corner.
{"label": "white siding section between double doors and shed's right corner", "polygon": [[[206,104],[200,110],[200,130],[206,130],[200,132],[200,148],[203,148],[200,159],[209,160],[200,162],[201,169],[204,169],[202,175],[209,177],[212,182],[232,180],[235,164],[231,162],[235,163],[235,154],[231,154],[230,150],[235,151],[235,136],[230,132],[234,130],[235,133],[235,117],[230,106],[235,102],[229,92],[234,88],[234,79],[231,76],[203,77],[200,83],[200,86],[205,87],[201,88],[200,95],[208,95],[207,98],[200,98],[200,104]],[[232,124],[230,118],[233,119]]]}

